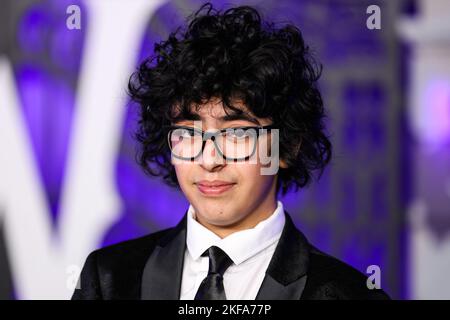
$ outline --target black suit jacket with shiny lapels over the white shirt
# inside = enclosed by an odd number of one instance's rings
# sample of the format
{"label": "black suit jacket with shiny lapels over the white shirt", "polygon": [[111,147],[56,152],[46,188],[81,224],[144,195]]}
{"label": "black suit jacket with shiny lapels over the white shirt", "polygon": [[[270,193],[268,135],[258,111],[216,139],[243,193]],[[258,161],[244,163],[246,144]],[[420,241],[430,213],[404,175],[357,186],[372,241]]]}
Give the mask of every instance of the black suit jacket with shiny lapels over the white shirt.
{"label": "black suit jacket with shiny lapels over the white shirt", "polygon": [[[256,300],[389,299],[366,276],[308,243],[286,224]],[[72,299],[178,300],[187,212],[176,227],[93,251]]]}

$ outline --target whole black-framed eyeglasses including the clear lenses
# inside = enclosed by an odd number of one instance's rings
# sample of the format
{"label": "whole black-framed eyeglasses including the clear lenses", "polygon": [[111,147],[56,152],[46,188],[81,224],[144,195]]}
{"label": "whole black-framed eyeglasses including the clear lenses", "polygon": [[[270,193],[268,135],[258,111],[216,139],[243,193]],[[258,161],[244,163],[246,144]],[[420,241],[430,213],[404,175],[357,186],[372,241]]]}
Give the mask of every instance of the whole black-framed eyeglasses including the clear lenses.
{"label": "whole black-framed eyeglasses including the clear lenses", "polygon": [[275,129],[274,126],[234,127],[215,132],[205,132],[188,126],[166,126],[169,129],[168,143],[172,155],[181,160],[195,160],[209,138],[225,160],[248,160],[256,150],[260,134]]}

